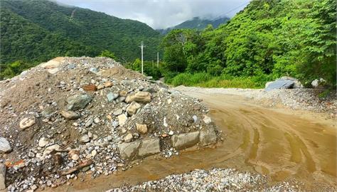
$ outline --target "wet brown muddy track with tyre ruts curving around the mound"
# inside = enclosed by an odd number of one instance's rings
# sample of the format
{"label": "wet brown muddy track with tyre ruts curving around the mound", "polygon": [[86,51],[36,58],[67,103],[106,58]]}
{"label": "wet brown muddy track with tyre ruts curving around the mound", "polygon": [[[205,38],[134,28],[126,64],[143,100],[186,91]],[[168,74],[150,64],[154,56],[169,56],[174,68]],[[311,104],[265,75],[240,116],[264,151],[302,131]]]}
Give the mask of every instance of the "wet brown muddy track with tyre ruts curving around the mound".
{"label": "wet brown muddy track with tyre ruts curving around the mound", "polygon": [[53,191],[105,191],[193,169],[235,168],[265,174],[270,183],[296,179],[306,190],[336,186],[336,123],[323,114],[269,109],[245,97],[184,92],[203,99],[222,130],[218,146],[182,151],[162,159],[150,156],[132,169],[112,176],[74,181]]}

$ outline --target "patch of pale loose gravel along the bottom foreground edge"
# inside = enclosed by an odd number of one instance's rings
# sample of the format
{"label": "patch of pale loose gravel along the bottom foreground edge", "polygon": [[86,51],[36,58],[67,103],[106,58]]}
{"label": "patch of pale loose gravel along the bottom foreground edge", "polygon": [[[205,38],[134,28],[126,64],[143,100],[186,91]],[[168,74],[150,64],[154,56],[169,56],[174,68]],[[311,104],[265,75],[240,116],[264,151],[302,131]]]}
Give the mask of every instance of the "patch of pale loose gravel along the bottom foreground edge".
{"label": "patch of pale loose gravel along the bottom foreground edge", "polygon": [[136,186],[112,188],[120,191],[301,191],[295,181],[274,183],[268,186],[266,176],[241,172],[235,169],[195,169],[186,174],[174,174],[157,181],[147,181]]}

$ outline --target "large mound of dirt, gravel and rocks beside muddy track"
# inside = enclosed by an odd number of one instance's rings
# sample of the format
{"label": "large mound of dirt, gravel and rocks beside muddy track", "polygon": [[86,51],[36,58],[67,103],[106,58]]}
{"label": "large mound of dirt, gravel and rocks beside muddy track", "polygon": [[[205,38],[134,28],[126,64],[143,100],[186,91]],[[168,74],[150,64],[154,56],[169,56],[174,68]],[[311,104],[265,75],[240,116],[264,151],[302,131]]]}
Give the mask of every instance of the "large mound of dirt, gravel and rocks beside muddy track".
{"label": "large mound of dirt, gravel and rocks beside muddy track", "polygon": [[0,112],[9,191],[108,175],[220,140],[198,100],[109,58],[55,58],[1,81]]}

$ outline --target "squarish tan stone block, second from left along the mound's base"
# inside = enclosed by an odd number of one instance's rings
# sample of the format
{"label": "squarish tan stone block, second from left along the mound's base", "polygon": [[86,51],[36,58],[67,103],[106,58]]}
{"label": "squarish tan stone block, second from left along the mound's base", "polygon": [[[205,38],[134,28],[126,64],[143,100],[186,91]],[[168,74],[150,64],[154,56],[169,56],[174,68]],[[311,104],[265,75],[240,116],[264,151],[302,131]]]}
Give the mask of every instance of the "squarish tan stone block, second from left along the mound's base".
{"label": "squarish tan stone block, second from left along the mound's base", "polygon": [[141,141],[141,146],[139,147],[138,156],[145,157],[160,153],[159,142],[159,138],[143,139]]}

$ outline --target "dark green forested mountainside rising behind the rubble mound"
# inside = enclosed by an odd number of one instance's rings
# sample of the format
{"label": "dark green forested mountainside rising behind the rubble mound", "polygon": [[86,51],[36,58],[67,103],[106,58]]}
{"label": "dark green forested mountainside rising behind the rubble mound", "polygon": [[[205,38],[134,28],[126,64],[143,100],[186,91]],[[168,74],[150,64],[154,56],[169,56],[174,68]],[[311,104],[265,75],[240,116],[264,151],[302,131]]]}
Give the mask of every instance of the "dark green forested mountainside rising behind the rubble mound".
{"label": "dark green forested mountainside rising behind the rubble mound", "polygon": [[117,58],[156,58],[160,34],[139,21],[52,1],[1,2],[1,63],[41,62],[55,55],[95,56],[110,50]]}

